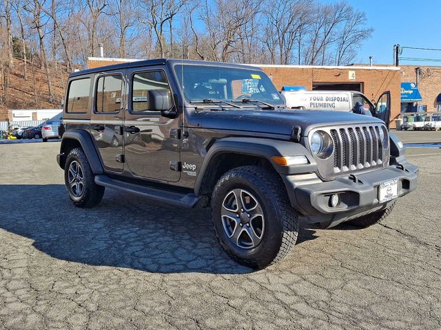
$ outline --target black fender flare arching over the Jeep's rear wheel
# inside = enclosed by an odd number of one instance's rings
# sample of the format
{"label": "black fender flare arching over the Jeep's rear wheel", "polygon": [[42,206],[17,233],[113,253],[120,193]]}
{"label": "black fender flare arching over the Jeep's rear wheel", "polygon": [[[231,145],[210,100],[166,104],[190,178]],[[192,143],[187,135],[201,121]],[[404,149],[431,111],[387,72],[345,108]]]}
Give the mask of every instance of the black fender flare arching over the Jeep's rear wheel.
{"label": "black fender flare arching over the Jeep's rear wheel", "polygon": [[60,154],[57,156],[59,166],[64,169],[65,158],[68,156],[65,148],[68,145],[68,142],[72,140],[79,142],[81,145],[86,157],[88,157],[92,172],[96,175],[102,174],[104,172],[103,164],[101,164],[101,159],[98,151],[96,151],[92,136],[90,136],[89,132],[81,129],[69,130],[63,134],[63,137],[61,138]]}

